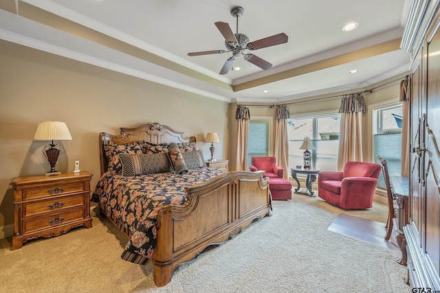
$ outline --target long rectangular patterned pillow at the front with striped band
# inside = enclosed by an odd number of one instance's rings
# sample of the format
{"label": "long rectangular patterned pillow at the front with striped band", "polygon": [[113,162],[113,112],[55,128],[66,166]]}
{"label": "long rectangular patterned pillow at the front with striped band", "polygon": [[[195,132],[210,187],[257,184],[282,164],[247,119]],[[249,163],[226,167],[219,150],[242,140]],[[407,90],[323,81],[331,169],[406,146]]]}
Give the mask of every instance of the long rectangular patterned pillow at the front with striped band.
{"label": "long rectangular patterned pillow at the front with striped band", "polygon": [[122,176],[171,172],[165,152],[158,154],[118,154],[122,162]]}

